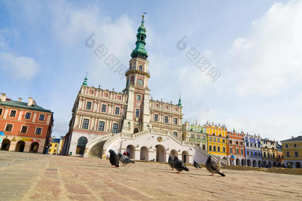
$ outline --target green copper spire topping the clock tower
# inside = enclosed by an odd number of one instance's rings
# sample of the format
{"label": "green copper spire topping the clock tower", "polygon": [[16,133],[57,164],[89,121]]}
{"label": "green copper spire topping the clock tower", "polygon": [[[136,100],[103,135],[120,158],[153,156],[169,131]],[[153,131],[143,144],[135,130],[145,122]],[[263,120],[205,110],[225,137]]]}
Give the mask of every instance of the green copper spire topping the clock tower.
{"label": "green copper spire topping the clock tower", "polygon": [[137,32],[138,32],[136,34],[137,40],[136,40],[136,43],[135,43],[136,48],[132,51],[131,57],[135,58],[137,56],[142,56],[142,57],[145,57],[147,59],[148,58],[148,53],[145,50],[145,45],[146,45],[145,39],[146,39],[147,35],[146,35],[146,27],[144,26],[144,17],[143,17],[143,20],[142,20],[142,24],[138,28]]}

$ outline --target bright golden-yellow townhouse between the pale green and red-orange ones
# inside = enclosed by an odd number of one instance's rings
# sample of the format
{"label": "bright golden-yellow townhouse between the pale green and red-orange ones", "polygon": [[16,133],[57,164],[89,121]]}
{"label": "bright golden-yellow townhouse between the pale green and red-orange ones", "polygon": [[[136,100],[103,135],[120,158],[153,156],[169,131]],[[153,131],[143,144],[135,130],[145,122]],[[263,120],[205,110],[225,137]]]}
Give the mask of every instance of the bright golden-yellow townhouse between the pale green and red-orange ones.
{"label": "bright golden-yellow townhouse between the pale green and red-orange ones", "polygon": [[207,133],[207,152],[227,160],[227,129],[224,125],[206,122],[204,125]]}

